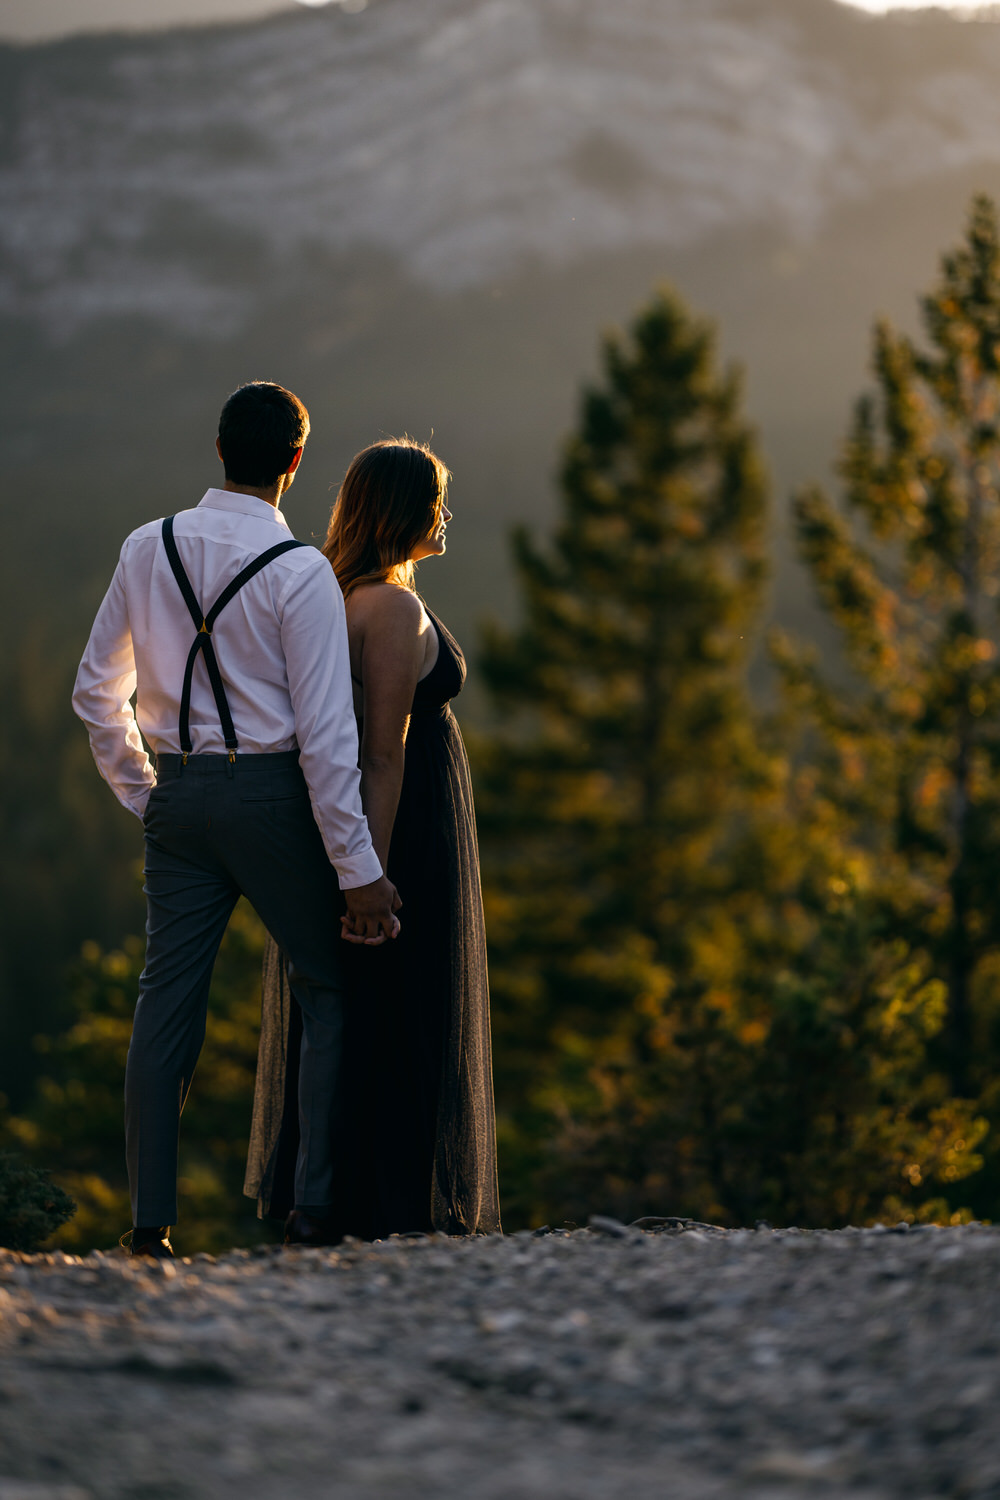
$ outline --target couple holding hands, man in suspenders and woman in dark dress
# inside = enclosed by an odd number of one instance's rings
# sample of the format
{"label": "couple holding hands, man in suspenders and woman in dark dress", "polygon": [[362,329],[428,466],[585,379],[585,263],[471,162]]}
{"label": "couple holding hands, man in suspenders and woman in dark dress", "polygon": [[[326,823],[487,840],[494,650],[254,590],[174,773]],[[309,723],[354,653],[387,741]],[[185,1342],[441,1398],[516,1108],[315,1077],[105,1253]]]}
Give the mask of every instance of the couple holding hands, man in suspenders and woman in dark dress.
{"label": "couple holding hands, man in suspenders and woman in dark dress", "polygon": [[499,1230],[475,822],[448,706],[465,660],[412,585],[445,550],[450,476],[409,440],[366,448],[318,552],[279,508],[307,435],[283,387],[229,396],[223,488],[126,538],[76,675],[97,768],[145,832],[133,1256],[172,1254],[180,1112],[240,894],[271,934],[259,1212],[310,1245]]}

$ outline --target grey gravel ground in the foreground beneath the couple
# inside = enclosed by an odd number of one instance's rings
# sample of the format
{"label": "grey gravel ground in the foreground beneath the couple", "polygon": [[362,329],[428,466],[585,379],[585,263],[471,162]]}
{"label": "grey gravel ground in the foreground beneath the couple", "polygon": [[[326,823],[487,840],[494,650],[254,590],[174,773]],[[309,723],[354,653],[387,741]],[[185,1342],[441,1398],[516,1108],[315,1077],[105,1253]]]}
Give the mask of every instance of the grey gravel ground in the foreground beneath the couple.
{"label": "grey gravel ground in the foreground beneath the couple", "polygon": [[0,1500],[1000,1500],[1000,1230],[0,1252]]}

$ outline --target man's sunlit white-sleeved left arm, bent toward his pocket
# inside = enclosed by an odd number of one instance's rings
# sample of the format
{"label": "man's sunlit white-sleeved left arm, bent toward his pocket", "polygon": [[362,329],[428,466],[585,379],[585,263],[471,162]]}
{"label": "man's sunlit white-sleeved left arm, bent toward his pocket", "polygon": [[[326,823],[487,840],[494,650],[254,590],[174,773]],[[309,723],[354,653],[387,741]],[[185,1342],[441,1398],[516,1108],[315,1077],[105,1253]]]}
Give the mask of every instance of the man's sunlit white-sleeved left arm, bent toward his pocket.
{"label": "man's sunlit white-sleeved left arm, bent toward his pocket", "polygon": [[135,656],[118,562],[76,672],[73,710],[87,724],[102,777],[121,806],[141,818],[156,776],[132,711],[133,693]]}

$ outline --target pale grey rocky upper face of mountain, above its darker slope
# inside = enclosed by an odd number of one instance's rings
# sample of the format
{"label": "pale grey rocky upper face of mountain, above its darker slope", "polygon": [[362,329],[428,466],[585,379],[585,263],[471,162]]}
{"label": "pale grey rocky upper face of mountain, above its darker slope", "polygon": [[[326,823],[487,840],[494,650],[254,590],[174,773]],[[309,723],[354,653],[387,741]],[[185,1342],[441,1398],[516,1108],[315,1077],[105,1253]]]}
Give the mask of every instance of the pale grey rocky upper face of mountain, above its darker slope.
{"label": "pale grey rocky upper face of mountain, above its darker slope", "polygon": [[1000,28],[835,0],[373,0],[6,51],[0,309],[232,336],[318,249],[448,294],[1000,164]]}

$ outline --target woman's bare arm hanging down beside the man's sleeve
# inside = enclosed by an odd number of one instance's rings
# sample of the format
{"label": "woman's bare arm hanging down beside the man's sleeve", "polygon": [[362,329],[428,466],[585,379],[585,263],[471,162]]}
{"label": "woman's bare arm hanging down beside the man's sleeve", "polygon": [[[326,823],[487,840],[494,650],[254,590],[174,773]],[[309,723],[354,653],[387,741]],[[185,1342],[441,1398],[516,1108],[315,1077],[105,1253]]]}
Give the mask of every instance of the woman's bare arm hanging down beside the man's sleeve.
{"label": "woman's bare arm hanging down beside the man's sleeve", "polygon": [[408,590],[387,584],[366,594],[363,612],[358,610],[364,696],[361,802],[385,870],[403,784],[409,710],[427,656],[427,632],[433,627]]}

